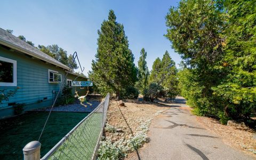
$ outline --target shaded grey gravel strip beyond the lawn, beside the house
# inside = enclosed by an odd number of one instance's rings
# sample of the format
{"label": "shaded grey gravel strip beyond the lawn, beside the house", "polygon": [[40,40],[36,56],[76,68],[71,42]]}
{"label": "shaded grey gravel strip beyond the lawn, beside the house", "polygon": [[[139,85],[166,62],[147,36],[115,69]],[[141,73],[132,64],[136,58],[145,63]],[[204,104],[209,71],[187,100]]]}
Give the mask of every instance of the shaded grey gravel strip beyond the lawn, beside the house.
{"label": "shaded grey gravel strip beyond the lawn, beside the house", "polygon": [[[80,103],[74,103],[66,106],[58,106],[53,107],[52,111],[75,111],[75,112],[91,112],[93,111],[99,104],[100,101],[88,101],[92,103],[92,106],[87,105],[87,107],[82,106]],[[37,109],[36,111],[50,111],[51,107]]]}

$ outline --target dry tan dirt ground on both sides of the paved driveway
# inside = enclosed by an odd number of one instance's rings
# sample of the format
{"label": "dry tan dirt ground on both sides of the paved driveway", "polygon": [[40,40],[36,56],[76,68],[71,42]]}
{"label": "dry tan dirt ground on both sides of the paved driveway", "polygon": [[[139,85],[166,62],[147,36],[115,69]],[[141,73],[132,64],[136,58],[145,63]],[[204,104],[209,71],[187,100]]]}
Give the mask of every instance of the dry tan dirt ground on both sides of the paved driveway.
{"label": "dry tan dirt ground on both sides of the paved driveway", "polygon": [[[107,114],[107,123],[121,129],[122,132],[118,135],[113,135],[106,132],[106,137],[111,138],[112,141],[117,141],[121,138],[127,138],[131,134],[137,132],[138,126],[148,119],[153,119],[162,111],[168,109],[164,104],[151,103],[139,100],[123,100],[124,106],[119,106],[120,101],[114,99],[110,100],[109,109]],[[162,103],[164,103],[162,101]],[[181,107],[182,109],[191,110],[188,107]],[[253,138],[255,132],[250,129],[237,129],[233,126],[227,126],[220,124],[216,119],[209,117],[196,117],[197,121],[204,125],[206,129],[218,134],[222,141],[226,144],[244,151],[246,154],[250,154],[256,157],[256,139]]]}

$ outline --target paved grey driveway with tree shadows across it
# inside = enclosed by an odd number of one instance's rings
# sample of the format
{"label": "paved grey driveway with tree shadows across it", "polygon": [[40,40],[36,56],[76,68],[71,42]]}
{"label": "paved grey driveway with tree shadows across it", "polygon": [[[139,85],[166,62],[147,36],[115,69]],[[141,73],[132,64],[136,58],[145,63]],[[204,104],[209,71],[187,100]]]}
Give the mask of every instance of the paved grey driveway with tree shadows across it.
{"label": "paved grey driveway with tree shadows across it", "polygon": [[218,135],[200,125],[183,98],[166,105],[170,109],[158,115],[150,126],[151,141],[128,159],[253,159],[225,145]]}

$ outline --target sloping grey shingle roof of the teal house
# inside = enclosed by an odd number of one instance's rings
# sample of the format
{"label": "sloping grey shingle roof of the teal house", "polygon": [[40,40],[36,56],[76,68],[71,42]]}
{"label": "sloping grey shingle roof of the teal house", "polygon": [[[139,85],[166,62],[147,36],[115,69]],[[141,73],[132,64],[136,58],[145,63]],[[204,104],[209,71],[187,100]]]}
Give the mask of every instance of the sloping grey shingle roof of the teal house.
{"label": "sloping grey shingle roof of the teal house", "polygon": [[[22,53],[31,55],[35,58],[40,60],[44,60],[48,63],[51,63],[55,66],[61,67],[63,69],[69,70],[69,67],[63,65],[61,62],[55,60],[54,58],[50,57],[49,55],[45,54],[44,52],[38,50],[36,47],[31,46],[30,44],[22,41],[18,37],[8,33],[6,30],[0,28],[0,44],[10,47],[11,49],[20,51]],[[76,73],[71,73],[73,75],[77,75]],[[86,78],[85,76],[81,76]]]}

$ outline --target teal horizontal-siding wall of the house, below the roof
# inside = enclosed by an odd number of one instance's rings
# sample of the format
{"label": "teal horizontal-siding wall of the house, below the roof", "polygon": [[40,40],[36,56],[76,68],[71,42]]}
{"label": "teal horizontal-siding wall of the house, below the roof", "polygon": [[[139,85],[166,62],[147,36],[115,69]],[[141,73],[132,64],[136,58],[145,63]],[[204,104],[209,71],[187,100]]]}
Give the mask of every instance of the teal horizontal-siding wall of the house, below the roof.
{"label": "teal horizontal-siding wall of the house, below the roof", "polygon": [[[25,110],[49,107],[58,93],[61,83],[49,83],[48,70],[58,71],[62,75],[62,82],[66,80],[66,72],[60,67],[55,67],[38,59],[33,59],[26,54],[12,51],[0,46],[0,57],[17,61],[17,86],[0,86],[0,90],[19,89],[9,101],[0,104],[0,118],[13,115],[13,107],[10,103],[26,103]],[[68,79],[74,80],[77,76],[68,75]],[[86,81],[87,79],[78,77],[76,81]],[[83,95],[86,89],[81,90],[76,87],[79,94]],[[54,93],[55,91],[55,93]],[[73,87],[74,92],[74,87]],[[74,93],[75,94],[75,93]],[[47,98],[44,100],[44,98]]]}

